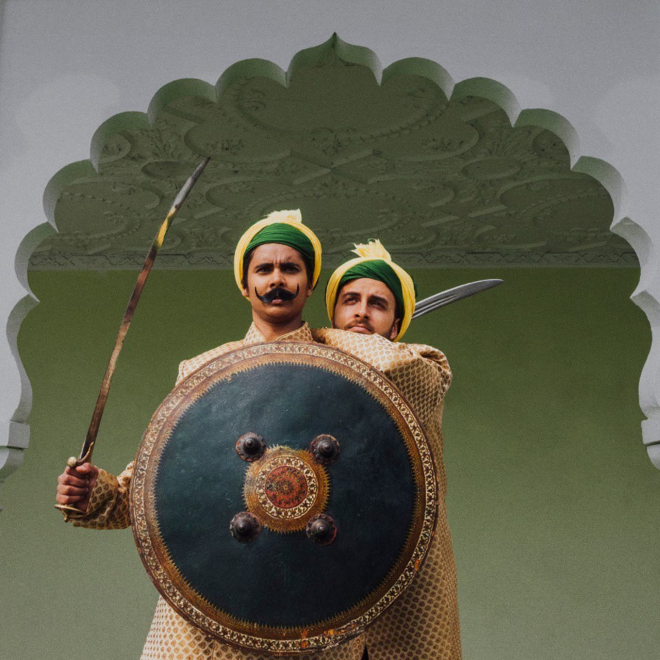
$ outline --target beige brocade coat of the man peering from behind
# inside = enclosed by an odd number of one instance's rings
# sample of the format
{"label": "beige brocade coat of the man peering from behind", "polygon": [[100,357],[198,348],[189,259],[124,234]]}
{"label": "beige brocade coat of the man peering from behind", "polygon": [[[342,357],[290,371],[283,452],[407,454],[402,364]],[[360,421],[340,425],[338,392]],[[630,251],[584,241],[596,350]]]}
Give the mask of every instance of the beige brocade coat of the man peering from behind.
{"label": "beige brocade coat of the man peering from behind", "polygon": [[412,584],[366,633],[369,660],[460,660],[456,563],[445,509],[442,410],[452,373],[445,355],[423,344],[378,335],[312,330],[314,340],[341,349],[382,371],[404,393],[426,426],[439,485],[437,527],[426,561]]}

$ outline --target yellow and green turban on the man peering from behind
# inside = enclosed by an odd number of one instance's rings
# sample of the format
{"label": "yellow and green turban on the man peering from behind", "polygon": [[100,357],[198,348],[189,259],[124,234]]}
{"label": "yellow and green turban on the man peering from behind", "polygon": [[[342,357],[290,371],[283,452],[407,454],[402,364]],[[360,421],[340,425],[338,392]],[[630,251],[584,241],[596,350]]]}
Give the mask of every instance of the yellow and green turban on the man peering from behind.
{"label": "yellow and green turban on the man peering from behind", "polygon": [[[395,337],[395,342],[398,342],[408,329],[412,312],[415,311],[415,296],[417,293],[415,282],[401,266],[392,261],[390,253],[377,239],[369,241],[369,243],[355,245],[353,253],[357,254],[358,257],[342,263],[330,276],[325,289],[325,305],[330,322],[332,322],[335,315],[337,294],[346,281],[361,277],[380,280],[391,290],[403,312],[399,334]],[[400,292],[398,290],[399,286]]]}

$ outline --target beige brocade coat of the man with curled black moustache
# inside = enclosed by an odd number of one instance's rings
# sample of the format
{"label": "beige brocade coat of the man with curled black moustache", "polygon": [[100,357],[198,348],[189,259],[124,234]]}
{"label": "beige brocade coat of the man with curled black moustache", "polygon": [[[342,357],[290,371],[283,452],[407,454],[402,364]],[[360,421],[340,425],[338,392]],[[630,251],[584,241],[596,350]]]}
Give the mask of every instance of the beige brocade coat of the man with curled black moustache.
{"label": "beige brocade coat of the man with curled black moustache", "polygon": [[[281,336],[278,341],[313,342],[314,339],[309,326],[305,323],[298,330]],[[203,364],[223,353],[262,342],[265,342],[265,338],[253,323],[243,340],[223,344],[191,360],[181,362],[177,384]],[[133,463],[129,463],[124,472],[117,477],[105,470],[99,470],[98,481],[91,494],[87,513],[85,516],[72,519],[73,524],[76,527],[89,529],[129,527],[132,476]],[[338,648],[306,655],[305,659],[360,660],[363,652],[364,639],[358,637]],[[204,635],[201,630],[180,617],[162,597],[159,597],[141,660],[267,660],[273,657],[270,654],[244,651]]]}

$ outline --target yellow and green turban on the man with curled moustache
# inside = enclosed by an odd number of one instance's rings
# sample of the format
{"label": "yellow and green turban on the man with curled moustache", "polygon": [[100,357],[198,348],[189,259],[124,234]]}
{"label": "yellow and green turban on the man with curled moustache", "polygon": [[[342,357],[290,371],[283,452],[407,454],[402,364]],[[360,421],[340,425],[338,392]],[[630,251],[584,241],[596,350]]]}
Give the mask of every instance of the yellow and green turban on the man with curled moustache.
{"label": "yellow and green turban on the man with curled moustache", "polygon": [[[278,227],[274,227],[278,225]],[[270,228],[265,234],[270,236],[269,239],[263,241],[263,243],[283,243],[283,245],[290,245],[292,248],[296,248],[301,254],[303,252],[312,252],[314,258],[311,259],[312,266],[314,268],[313,276],[311,278],[312,287],[316,287],[318,282],[318,276],[321,273],[321,243],[316,238],[316,234],[307,227],[303,225],[303,217],[300,215],[300,209],[292,211],[273,211],[268,214],[263,220],[255,222],[243,236],[239,239],[238,245],[236,245],[236,252],[234,252],[234,278],[236,279],[236,286],[239,287],[241,292],[243,291],[243,262],[245,260],[245,254],[250,250],[254,249],[259,243],[259,232],[265,228]],[[273,230],[278,229],[278,232]],[[304,244],[307,244],[311,247],[311,250],[301,250]],[[311,254],[307,254],[311,256]]]}

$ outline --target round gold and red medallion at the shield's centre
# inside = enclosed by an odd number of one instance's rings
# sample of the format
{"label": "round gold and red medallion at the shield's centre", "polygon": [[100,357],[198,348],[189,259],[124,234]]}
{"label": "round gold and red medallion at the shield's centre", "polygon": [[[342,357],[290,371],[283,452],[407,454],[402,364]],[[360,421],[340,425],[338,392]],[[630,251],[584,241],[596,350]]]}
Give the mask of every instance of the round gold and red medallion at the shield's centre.
{"label": "round gold and red medallion at the shield's centre", "polygon": [[250,465],[243,494],[248,511],[269,529],[305,529],[327,505],[328,474],[306,450],[273,447]]}

